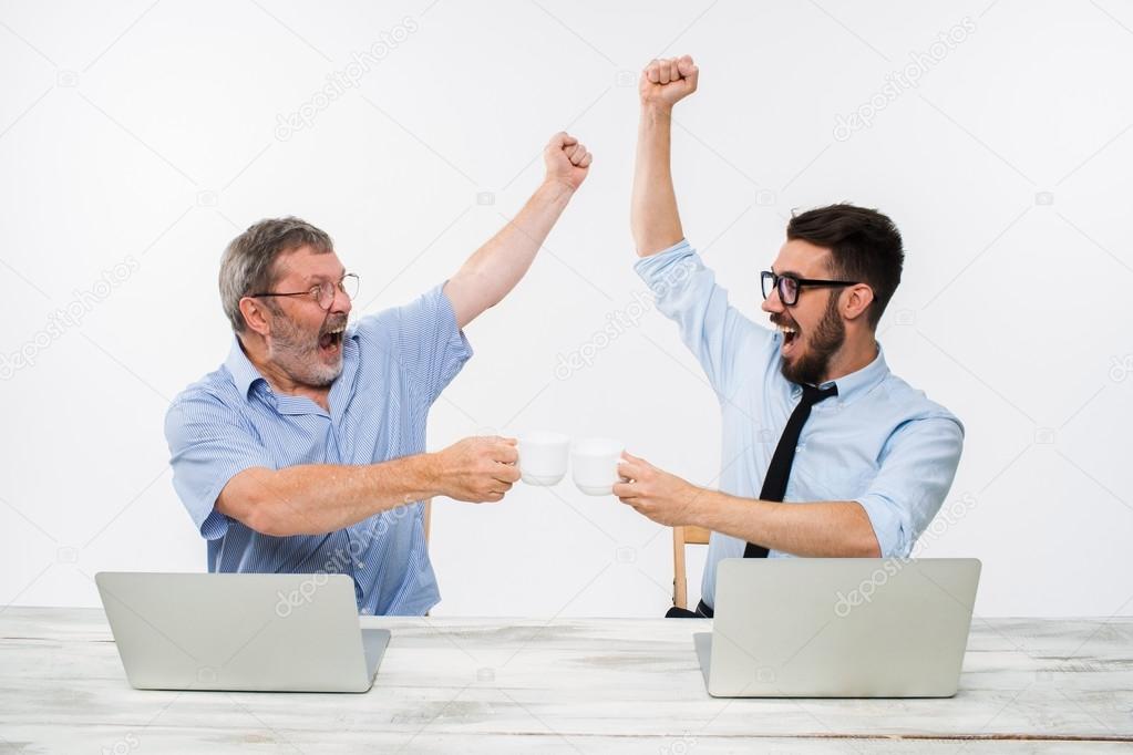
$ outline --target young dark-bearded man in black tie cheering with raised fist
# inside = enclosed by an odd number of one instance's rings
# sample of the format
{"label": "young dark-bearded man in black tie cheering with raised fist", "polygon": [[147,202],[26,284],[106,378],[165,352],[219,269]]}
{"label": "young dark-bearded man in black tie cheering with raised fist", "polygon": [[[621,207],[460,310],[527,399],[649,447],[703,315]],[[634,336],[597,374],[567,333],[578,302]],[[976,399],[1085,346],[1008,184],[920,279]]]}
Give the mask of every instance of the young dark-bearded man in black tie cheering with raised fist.
{"label": "young dark-bearded man in black tie cheering with raised fist", "polygon": [[729,304],[684,239],[670,171],[673,105],[698,76],[689,57],[641,76],[631,214],[637,271],[719,397],[719,490],[627,454],[614,494],[661,524],[713,531],[697,609],[712,616],[722,558],[908,556],[952,486],[963,427],[889,372],[875,340],[904,259],[885,215],[832,205],[792,217],[761,273],[774,328]]}

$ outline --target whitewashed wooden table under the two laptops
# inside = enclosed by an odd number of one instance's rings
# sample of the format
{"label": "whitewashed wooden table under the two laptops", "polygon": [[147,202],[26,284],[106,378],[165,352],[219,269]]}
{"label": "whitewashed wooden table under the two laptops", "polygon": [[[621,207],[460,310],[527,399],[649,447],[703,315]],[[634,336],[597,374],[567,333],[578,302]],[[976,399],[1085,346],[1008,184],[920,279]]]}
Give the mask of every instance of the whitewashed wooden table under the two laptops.
{"label": "whitewashed wooden table under the two laptops", "polygon": [[364,621],[364,695],[138,692],[101,610],[8,608],[0,753],[1133,752],[1133,619],[977,619],[951,700],[715,700],[707,620]]}

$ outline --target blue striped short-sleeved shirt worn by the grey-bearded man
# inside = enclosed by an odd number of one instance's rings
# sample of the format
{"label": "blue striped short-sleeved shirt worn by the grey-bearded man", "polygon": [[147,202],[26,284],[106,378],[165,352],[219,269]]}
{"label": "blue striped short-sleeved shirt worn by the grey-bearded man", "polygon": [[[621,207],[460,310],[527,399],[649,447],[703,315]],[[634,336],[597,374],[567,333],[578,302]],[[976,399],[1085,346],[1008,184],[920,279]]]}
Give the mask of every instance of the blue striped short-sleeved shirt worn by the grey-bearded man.
{"label": "blue striped short-sleeved shirt worn by the grey-bearded man", "polygon": [[254,466],[373,464],[424,452],[429,406],[471,353],[438,285],[347,332],[327,412],[273,392],[233,337],[224,364],[186,388],[165,417],[173,488],[208,542],[208,570],[348,574],[364,614],[428,611],[441,595],[420,501],[327,534],[287,538],[255,532],[215,503],[232,477]]}

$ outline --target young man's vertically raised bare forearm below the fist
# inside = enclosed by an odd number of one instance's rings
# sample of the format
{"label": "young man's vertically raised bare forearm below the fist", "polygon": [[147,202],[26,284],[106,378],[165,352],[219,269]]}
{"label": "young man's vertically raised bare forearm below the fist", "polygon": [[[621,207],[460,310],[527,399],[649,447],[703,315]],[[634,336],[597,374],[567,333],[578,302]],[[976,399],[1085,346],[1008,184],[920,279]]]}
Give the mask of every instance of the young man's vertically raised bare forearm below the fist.
{"label": "young man's vertically raised bare forearm below the fist", "polygon": [[666,249],[684,238],[673,190],[671,138],[672,109],[642,104],[630,206],[633,243],[641,257]]}

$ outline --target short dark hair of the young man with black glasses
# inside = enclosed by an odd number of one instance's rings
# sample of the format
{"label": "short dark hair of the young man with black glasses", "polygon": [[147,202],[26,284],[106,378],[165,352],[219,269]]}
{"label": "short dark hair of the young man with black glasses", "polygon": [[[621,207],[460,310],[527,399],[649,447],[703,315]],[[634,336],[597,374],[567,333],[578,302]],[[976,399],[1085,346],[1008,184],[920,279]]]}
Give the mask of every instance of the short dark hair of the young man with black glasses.
{"label": "short dark hair of the young man with black glasses", "polygon": [[833,276],[869,285],[874,290],[869,325],[877,328],[901,284],[905,261],[901,231],[893,221],[876,209],[843,203],[793,215],[786,224],[786,238],[829,249]]}

